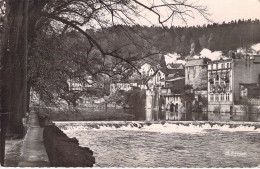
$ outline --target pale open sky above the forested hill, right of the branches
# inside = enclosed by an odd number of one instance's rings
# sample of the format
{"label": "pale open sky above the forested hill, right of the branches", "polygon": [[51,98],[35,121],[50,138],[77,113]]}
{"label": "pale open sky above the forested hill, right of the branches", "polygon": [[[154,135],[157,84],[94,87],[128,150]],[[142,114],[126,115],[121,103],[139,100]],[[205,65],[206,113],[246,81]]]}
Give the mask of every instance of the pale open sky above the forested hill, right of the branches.
{"label": "pale open sky above the forested hill, right of the branches", "polygon": [[[231,20],[239,19],[260,19],[260,0],[190,0],[194,1],[196,4],[207,6],[208,13],[210,13],[209,18],[213,22],[222,23],[230,22]],[[188,26],[196,26],[208,24],[209,22],[201,17],[199,14],[194,13],[194,19],[188,18]],[[152,15],[147,15],[152,23],[156,23],[157,18]],[[156,24],[157,25],[157,24]],[[167,26],[170,23],[166,24]],[[175,26],[185,26],[183,21],[176,18],[173,21]]]}

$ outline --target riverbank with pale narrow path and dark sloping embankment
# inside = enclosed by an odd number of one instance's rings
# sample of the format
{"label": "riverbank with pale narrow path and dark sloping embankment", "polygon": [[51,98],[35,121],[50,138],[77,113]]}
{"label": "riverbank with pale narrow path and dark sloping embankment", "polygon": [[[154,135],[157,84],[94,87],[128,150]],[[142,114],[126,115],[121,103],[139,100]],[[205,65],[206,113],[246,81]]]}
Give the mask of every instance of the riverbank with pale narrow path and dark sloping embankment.
{"label": "riverbank with pale narrow path and dark sloping embankment", "polygon": [[30,112],[28,130],[22,140],[18,167],[92,167],[95,159],[78,140],[70,139],[47,115]]}

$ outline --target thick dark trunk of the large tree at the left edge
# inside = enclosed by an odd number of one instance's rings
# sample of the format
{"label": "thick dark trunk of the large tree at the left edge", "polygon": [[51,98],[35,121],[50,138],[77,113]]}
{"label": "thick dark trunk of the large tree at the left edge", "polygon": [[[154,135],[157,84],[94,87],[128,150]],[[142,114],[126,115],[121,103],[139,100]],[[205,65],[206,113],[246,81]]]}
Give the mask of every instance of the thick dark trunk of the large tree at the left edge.
{"label": "thick dark trunk of the large tree at the left edge", "polygon": [[10,112],[10,133],[23,135],[24,112],[24,2],[7,1],[1,50],[1,107]]}

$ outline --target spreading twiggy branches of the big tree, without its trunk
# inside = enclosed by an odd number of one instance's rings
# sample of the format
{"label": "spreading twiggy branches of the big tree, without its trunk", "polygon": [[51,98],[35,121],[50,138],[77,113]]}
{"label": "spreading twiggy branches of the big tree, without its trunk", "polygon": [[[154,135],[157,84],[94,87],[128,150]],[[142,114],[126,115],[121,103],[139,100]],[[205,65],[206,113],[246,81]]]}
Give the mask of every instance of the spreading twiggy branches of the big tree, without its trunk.
{"label": "spreading twiggy branches of the big tree, without its trunk", "polygon": [[[205,8],[189,4],[159,2],[160,5],[141,1],[30,1],[29,86],[45,102],[63,99],[76,105],[81,97],[96,91],[107,93],[109,79],[127,79],[137,61],[160,53],[149,32],[142,32],[137,19],[139,10],[156,14],[163,23],[186,11],[206,13]],[[168,8],[168,7],[175,7]],[[171,9],[169,18],[162,20],[158,10]],[[83,29],[86,27],[86,30]],[[68,79],[88,83],[92,76],[96,84],[91,90],[71,91]]]}

